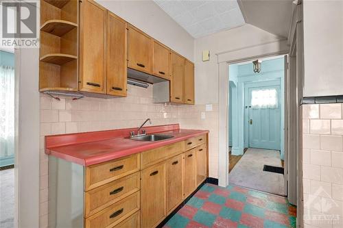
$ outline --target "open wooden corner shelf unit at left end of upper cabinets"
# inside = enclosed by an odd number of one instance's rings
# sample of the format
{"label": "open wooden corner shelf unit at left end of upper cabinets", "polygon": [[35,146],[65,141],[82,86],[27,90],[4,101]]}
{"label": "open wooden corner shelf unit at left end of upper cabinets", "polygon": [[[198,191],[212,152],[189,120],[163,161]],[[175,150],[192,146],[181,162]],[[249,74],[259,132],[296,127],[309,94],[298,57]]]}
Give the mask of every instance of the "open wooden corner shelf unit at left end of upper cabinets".
{"label": "open wooden corner shelf unit at left end of upper cabinets", "polygon": [[40,1],[40,92],[78,91],[78,5]]}

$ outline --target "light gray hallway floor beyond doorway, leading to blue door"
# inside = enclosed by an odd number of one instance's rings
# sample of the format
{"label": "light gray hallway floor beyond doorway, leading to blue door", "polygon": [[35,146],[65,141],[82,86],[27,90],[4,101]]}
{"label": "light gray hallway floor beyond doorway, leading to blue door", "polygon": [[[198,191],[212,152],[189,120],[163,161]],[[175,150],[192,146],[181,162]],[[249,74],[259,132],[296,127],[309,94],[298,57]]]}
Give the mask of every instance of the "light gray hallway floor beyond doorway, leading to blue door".
{"label": "light gray hallway floor beyond doorway, leading to blue door", "polygon": [[283,175],[263,171],[264,165],[281,167],[280,152],[249,148],[229,173],[228,182],[237,186],[284,195]]}

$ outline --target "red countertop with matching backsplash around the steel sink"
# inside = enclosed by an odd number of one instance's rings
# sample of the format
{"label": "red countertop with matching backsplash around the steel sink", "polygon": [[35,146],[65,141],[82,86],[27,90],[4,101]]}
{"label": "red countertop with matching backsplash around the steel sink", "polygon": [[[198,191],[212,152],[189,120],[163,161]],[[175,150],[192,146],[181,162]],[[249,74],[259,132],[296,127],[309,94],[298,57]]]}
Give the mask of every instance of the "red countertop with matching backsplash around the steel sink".
{"label": "red countertop with matching backsplash around the steel sink", "polygon": [[142,142],[127,138],[137,128],[94,131],[45,137],[45,153],[61,159],[91,166],[209,133],[207,130],[179,129],[179,125],[145,127],[147,134],[174,136],[167,140]]}

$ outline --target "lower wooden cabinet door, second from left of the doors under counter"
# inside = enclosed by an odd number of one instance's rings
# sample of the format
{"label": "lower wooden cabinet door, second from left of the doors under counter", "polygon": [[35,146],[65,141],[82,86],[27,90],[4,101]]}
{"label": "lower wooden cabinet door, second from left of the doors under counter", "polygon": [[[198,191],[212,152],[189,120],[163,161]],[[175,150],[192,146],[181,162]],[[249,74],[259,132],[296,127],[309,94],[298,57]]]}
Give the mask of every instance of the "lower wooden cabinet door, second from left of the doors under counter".
{"label": "lower wooden cabinet door, second from left of the doors under counter", "polygon": [[182,154],[166,162],[167,213],[174,209],[182,199]]}

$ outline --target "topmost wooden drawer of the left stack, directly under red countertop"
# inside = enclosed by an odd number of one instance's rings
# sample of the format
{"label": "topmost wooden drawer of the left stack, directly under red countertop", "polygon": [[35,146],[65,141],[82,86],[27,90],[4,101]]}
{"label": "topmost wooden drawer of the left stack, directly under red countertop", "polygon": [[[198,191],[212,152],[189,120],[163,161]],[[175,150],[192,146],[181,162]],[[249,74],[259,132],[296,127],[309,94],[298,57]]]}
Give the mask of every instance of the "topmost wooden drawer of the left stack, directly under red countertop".
{"label": "topmost wooden drawer of the left stack, directly under red countertop", "polygon": [[86,191],[139,170],[139,153],[86,167]]}

